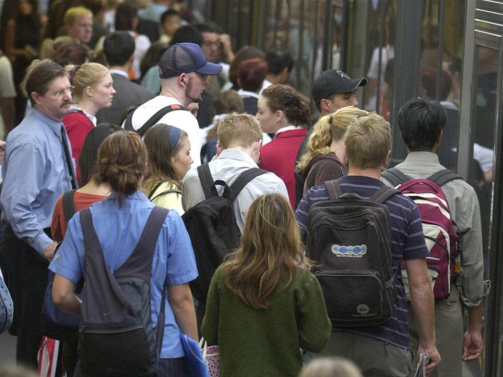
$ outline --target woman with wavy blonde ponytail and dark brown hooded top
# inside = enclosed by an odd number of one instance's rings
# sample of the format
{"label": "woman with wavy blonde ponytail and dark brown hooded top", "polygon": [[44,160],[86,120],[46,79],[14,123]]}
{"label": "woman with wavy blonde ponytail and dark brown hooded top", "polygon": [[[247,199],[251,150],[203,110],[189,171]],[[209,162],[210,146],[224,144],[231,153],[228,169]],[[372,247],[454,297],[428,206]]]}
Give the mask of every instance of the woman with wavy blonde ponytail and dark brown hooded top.
{"label": "woman with wavy blonde ponytail and dark brown hooded top", "polygon": [[368,111],[346,106],[318,120],[295,168],[304,180],[304,194],[313,186],[348,174],[344,135],[353,119],[364,114]]}

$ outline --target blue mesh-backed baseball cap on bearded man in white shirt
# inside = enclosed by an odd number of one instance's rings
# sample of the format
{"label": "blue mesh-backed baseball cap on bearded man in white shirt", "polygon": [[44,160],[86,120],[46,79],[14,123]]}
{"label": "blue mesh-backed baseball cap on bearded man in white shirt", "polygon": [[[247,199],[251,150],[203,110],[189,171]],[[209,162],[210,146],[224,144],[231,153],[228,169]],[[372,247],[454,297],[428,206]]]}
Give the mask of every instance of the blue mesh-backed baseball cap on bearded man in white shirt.
{"label": "blue mesh-backed baseball cap on bearded man in white shirt", "polygon": [[159,60],[160,78],[176,77],[190,72],[213,76],[221,71],[222,66],[208,62],[201,47],[195,43],[177,43],[167,49]]}

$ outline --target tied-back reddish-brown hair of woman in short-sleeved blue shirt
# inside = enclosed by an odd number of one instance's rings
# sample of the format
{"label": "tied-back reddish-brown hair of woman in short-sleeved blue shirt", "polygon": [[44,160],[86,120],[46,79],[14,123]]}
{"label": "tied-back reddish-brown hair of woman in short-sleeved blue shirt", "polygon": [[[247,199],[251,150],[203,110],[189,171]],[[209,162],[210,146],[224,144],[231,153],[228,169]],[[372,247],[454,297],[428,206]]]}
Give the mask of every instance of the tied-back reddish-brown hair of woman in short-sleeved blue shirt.
{"label": "tied-back reddish-brown hair of woman in short-sleeved blue shirt", "polygon": [[147,150],[135,132],[118,131],[107,137],[98,150],[98,177],[120,198],[132,194],[147,168]]}

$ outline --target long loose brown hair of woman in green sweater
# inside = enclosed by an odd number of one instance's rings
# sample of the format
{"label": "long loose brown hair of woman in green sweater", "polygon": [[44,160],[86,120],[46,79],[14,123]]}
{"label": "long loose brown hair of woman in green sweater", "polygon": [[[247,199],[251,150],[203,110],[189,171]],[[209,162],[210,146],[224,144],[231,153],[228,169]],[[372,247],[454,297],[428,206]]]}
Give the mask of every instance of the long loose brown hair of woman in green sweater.
{"label": "long loose brown hair of woman in green sweater", "polygon": [[269,307],[269,297],[285,274],[309,269],[300,232],[288,200],[281,194],[259,196],[248,209],[238,249],[223,263],[225,285],[255,309]]}

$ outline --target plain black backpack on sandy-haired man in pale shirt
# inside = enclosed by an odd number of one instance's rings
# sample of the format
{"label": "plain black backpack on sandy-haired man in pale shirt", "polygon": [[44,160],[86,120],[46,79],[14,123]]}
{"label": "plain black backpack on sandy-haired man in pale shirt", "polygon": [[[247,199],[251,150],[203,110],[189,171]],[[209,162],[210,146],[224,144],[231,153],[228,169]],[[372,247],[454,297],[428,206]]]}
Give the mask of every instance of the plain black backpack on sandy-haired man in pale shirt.
{"label": "plain black backpack on sandy-haired man in pale shirt", "polygon": [[[206,199],[185,212],[182,219],[191,237],[199,272],[199,277],[190,283],[192,294],[206,303],[215,270],[237,247],[241,237],[232,202],[249,181],[267,172],[259,168],[248,169],[230,187],[221,180],[213,182],[208,164],[198,166],[197,172]],[[218,195],[215,185],[224,186],[222,196]]]}

